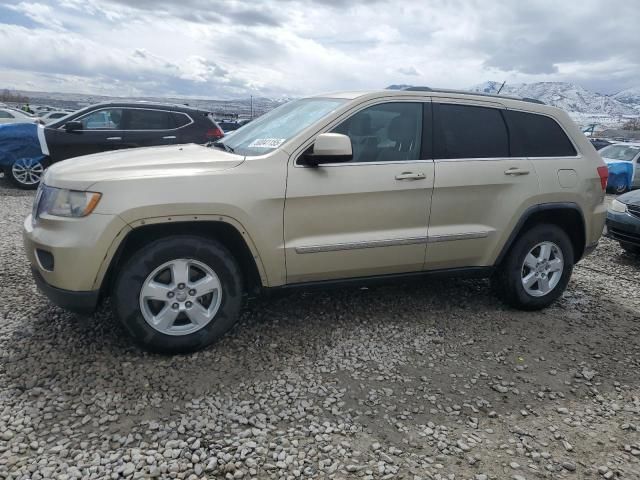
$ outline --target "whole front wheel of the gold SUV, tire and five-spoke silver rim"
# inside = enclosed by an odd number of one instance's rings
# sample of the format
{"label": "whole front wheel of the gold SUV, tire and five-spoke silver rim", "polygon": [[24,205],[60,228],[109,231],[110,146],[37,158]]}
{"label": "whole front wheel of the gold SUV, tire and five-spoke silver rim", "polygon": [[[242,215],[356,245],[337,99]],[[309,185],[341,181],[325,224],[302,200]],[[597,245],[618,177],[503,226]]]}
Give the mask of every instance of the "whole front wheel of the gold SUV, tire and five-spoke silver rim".
{"label": "whole front wheel of the gold SUV, tire and five-spoke silver rim", "polygon": [[132,255],[113,297],[116,315],[136,343],[174,354],[220,339],[238,320],[242,293],[238,263],[222,244],[176,235]]}

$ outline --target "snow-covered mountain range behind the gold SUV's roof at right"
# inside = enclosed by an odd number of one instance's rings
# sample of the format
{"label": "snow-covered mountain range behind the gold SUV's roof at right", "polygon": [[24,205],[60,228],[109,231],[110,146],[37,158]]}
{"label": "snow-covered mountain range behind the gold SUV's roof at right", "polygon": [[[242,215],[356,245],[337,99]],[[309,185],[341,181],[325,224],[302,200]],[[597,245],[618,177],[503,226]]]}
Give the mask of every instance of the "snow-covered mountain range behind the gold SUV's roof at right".
{"label": "snow-covered mountain range behind the gold SUV's roof at right", "polygon": [[[490,81],[471,87],[469,90],[495,94],[501,85],[502,82]],[[631,92],[631,90],[626,90],[625,92]],[[620,92],[620,94],[623,93]],[[622,96],[622,98],[628,100],[623,102],[620,98],[616,98],[617,96],[591,92],[580,85],[568,82],[507,83],[500,92],[501,95],[535,98],[547,105],[562,108],[567,112],[604,114],[608,116],[639,115],[640,89],[635,89],[635,93],[635,98],[631,94]]]}

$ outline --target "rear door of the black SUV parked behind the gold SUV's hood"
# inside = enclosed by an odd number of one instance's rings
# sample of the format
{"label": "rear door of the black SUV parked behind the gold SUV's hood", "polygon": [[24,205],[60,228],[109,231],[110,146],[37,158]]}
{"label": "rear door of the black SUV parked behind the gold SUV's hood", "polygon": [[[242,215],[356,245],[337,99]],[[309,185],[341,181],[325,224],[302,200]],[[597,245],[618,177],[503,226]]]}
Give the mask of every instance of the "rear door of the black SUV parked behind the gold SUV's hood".
{"label": "rear door of the black SUV parked behind the gold SUV's hood", "polygon": [[172,112],[151,108],[127,108],[123,142],[127,148],[179,143]]}

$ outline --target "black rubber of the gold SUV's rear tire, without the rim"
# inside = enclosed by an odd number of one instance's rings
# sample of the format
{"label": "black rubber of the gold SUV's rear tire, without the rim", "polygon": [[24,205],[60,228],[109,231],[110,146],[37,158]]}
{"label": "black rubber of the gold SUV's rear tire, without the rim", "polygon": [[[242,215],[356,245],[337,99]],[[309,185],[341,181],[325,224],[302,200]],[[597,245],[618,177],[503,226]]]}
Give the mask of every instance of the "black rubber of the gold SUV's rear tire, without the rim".
{"label": "black rubber of the gold SUV's rear tire, without the rim", "polygon": [[[558,246],[563,256],[564,267],[557,285],[546,295],[535,297],[522,285],[523,264],[527,254],[544,241],[553,242]],[[516,239],[492,276],[491,285],[496,295],[507,305],[520,310],[540,310],[557,300],[567,288],[574,258],[571,240],[561,228],[549,224],[536,225]]]}

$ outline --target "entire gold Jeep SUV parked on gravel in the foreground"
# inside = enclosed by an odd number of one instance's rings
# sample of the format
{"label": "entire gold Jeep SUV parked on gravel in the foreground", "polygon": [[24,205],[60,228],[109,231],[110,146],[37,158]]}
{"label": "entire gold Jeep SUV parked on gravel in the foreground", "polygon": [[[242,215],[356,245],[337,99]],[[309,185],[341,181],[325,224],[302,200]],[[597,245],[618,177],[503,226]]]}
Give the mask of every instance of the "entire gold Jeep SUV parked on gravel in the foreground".
{"label": "entire gold Jeep SUV parked on gravel in the foreground", "polygon": [[487,276],[541,309],[602,234],[607,169],[570,117],[453,91],[292,101],[210,147],[53,165],[24,224],[39,288],[110,296],[143,347],[202,348],[245,295],[417,275]]}

